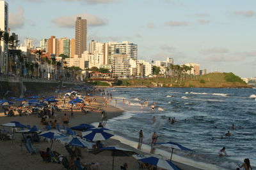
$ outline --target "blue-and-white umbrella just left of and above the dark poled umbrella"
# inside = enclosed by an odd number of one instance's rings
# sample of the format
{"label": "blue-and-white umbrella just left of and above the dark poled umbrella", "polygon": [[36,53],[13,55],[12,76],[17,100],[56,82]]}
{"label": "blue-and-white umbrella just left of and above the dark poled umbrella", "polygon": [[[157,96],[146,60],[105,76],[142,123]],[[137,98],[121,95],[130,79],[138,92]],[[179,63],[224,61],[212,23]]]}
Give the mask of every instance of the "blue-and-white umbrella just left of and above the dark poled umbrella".
{"label": "blue-and-white umbrella just left of and above the dark poled umbrella", "polygon": [[92,149],[92,143],[89,143],[88,141],[78,137],[78,136],[68,136],[65,138],[60,138],[60,141],[63,143],[68,143],[71,146],[77,146],[81,148],[88,148]]}

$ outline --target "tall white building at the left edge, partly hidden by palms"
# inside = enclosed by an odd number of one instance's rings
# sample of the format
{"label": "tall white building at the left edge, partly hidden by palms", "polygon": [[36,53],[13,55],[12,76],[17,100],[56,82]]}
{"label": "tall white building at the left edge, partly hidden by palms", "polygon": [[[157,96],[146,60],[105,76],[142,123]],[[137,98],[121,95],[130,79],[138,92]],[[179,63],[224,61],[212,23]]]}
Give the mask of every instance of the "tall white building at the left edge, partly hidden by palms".
{"label": "tall white building at the left edge, partly hidden by palms", "polygon": [[[0,29],[8,31],[8,3],[0,1]],[[7,69],[7,44],[0,39],[0,73],[4,73]]]}

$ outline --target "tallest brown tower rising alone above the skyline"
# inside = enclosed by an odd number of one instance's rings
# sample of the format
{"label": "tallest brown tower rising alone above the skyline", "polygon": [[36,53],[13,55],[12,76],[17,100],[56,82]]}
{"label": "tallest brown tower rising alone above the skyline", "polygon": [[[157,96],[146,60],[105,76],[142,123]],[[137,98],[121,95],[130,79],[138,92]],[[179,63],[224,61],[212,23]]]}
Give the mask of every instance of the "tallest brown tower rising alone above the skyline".
{"label": "tallest brown tower rising alone above the skyline", "polygon": [[76,19],[76,55],[81,55],[86,51],[87,44],[87,20],[77,17]]}

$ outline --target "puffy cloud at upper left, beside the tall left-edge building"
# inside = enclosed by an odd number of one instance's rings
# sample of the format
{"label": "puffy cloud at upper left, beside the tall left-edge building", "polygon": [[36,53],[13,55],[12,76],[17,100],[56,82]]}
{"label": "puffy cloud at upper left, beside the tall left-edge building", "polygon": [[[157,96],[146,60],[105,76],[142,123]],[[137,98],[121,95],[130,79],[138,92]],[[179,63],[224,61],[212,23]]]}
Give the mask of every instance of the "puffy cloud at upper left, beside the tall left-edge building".
{"label": "puffy cloud at upper left, beside the tall left-edge building", "polygon": [[9,27],[10,29],[22,28],[24,26],[24,10],[20,6],[17,8],[15,13],[9,13]]}

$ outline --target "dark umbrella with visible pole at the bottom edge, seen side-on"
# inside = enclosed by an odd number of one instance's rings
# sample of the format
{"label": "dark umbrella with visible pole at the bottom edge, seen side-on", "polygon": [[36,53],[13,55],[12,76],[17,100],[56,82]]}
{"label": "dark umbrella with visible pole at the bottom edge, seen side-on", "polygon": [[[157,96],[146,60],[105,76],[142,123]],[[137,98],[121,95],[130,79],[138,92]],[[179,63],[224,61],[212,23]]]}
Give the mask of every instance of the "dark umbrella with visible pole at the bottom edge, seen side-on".
{"label": "dark umbrella with visible pole at the bottom edge, seen side-on", "polygon": [[120,148],[117,146],[108,146],[105,148],[99,148],[92,153],[100,153],[102,151],[109,150],[112,152],[112,169],[114,169],[114,157],[129,157],[132,154],[137,154],[136,152],[133,152],[132,150],[127,150],[125,148]]}

